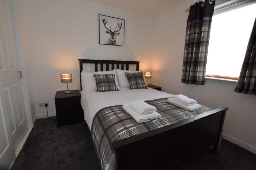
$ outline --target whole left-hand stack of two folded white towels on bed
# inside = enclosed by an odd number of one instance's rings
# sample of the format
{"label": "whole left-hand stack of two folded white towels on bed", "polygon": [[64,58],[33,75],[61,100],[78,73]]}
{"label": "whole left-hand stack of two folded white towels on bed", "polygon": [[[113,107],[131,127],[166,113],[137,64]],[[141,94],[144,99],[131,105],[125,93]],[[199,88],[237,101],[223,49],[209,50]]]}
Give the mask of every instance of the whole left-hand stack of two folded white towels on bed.
{"label": "whole left-hand stack of two folded white towels on bed", "polygon": [[149,105],[142,100],[125,103],[123,109],[139,123],[162,117],[156,112],[156,107]]}

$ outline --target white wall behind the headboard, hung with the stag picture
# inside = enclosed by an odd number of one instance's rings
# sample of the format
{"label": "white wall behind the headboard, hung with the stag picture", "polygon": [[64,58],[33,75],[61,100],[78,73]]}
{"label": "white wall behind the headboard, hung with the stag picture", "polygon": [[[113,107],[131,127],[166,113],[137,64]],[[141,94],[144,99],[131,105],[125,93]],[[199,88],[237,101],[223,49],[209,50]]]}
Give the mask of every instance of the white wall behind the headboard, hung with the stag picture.
{"label": "white wall behind the headboard, hung with the stag picture", "polygon": [[[49,113],[55,114],[55,93],[66,89],[61,73],[72,73],[69,88],[79,89],[78,59],[139,60],[142,70],[148,68],[151,18],[85,0],[22,0],[21,4],[37,117],[46,115],[39,102],[49,102]],[[98,14],[125,19],[124,47],[99,45]]]}

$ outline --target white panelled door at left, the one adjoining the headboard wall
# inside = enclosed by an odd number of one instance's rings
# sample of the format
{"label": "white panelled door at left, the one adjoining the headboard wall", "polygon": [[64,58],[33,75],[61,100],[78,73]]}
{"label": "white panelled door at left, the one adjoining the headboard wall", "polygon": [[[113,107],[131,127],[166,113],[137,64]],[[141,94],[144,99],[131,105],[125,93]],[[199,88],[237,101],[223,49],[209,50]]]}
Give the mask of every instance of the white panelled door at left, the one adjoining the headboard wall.
{"label": "white panelled door at left, the one adjoining the headboard wall", "polygon": [[9,120],[5,125],[10,127],[14,150],[28,130],[17,61],[10,1],[0,0],[0,89],[3,90],[1,100],[4,101],[2,104],[5,103],[3,107],[6,107],[7,113],[3,114],[8,115]]}

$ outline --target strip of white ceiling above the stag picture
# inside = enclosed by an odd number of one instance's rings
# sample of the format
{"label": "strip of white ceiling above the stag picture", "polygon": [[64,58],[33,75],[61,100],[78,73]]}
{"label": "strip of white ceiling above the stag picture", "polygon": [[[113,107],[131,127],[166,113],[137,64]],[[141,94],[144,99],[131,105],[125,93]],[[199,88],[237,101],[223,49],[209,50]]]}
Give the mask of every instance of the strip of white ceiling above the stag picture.
{"label": "strip of white ceiling above the stag picture", "polygon": [[173,6],[181,3],[180,0],[89,0],[94,3],[121,8],[127,11],[157,16]]}

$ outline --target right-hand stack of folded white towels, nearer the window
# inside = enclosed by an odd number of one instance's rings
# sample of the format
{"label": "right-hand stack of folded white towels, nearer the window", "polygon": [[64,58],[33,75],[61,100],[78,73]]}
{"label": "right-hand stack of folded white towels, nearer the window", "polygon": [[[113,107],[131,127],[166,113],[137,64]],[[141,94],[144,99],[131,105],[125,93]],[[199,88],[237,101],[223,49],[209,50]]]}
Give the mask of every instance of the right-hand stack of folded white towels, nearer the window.
{"label": "right-hand stack of folded white towels, nearer the window", "polygon": [[196,111],[202,107],[201,105],[197,104],[196,100],[190,99],[182,94],[174,95],[173,98],[168,98],[167,101],[189,111]]}

